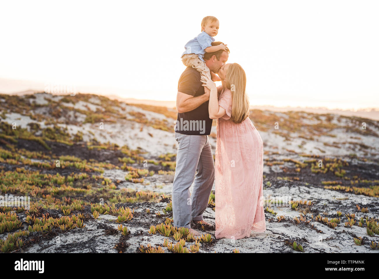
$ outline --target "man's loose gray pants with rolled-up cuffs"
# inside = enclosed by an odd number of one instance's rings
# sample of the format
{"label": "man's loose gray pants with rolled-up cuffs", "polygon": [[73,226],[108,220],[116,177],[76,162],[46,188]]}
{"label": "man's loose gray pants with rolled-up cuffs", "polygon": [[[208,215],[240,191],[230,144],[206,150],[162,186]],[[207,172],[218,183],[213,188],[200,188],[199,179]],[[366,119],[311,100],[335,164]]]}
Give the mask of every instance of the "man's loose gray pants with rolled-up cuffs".
{"label": "man's loose gray pants with rolled-up cuffs", "polygon": [[[207,209],[215,181],[215,163],[207,135],[175,132],[175,139],[178,142],[178,152],[172,184],[172,216],[174,227],[190,229],[191,221],[202,220],[203,212]],[[190,196],[189,187],[193,182]]]}

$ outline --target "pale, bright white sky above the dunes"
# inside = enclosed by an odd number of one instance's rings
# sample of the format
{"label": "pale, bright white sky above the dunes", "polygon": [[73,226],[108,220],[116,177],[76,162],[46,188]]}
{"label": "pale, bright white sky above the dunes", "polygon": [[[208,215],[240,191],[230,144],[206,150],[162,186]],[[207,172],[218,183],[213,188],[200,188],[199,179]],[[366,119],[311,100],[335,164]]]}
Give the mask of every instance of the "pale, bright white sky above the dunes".
{"label": "pale, bright white sky above the dunes", "polygon": [[184,45],[212,15],[251,105],[378,108],[378,12],[346,0],[2,2],[0,78],[175,100]]}

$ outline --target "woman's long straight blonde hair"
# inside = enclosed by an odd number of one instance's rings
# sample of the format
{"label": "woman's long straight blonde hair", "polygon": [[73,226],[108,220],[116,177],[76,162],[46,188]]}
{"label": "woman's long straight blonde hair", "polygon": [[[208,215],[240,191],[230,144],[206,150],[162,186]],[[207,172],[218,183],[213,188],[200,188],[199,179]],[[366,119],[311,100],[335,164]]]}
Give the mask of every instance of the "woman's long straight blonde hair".
{"label": "woman's long straight blonde hair", "polygon": [[232,117],[234,123],[241,123],[249,117],[250,103],[246,94],[246,74],[240,64],[231,63],[226,72],[226,87],[232,91]]}

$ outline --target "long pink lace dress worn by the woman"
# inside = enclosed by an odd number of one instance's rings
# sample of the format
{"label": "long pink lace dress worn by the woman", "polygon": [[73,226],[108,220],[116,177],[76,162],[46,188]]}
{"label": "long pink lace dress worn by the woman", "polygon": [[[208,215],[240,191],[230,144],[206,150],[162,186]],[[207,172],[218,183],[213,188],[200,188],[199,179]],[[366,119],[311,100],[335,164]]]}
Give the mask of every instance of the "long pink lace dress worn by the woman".
{"label": "long pink lace dress worn by the woman", "polygon": [[217,119],[216,238],[249,237],[266,230],[263,208],[263,142],[249,118],[232,116],[232,92],[223,89],[218,103],[226,114]]}

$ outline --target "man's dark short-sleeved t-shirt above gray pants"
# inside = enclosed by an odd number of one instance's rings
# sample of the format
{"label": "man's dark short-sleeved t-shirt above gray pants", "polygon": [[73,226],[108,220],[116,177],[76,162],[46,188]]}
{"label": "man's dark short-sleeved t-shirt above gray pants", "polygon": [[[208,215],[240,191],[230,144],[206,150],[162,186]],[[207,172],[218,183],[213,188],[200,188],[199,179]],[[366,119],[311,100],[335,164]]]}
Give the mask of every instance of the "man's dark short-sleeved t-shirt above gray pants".
{"label": "man's dark short-sleeved t-shirt above gray pants", "polygon": [[[194,97],[204,94],[200,76],[198,71],[187,67],[179,78],[178,91]],[[208,103],[209,100],[194,110],[178,113],[175,132],[185,135],[210,135],[213,119],[209,118]]]}

